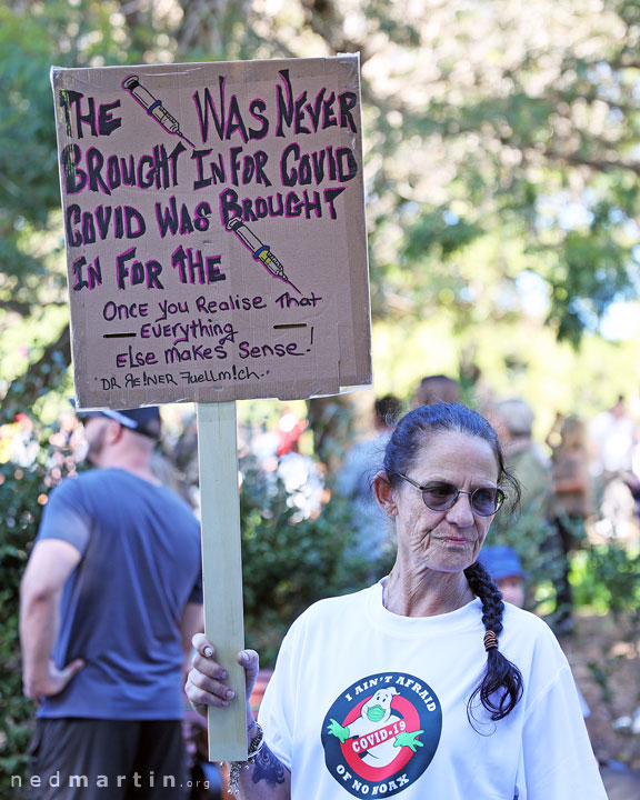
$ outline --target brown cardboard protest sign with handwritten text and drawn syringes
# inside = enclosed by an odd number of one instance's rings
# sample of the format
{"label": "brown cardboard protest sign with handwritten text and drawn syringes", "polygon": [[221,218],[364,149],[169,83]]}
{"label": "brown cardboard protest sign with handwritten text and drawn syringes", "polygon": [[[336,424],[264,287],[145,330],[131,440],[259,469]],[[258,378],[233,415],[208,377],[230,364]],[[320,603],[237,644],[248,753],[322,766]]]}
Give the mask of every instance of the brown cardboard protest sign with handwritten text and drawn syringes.
{"label": "brown cardboard protest sign with handwritten text and drawn syringes", "polygon": [[358,68],[52,69],[80,408],[371,382]]}

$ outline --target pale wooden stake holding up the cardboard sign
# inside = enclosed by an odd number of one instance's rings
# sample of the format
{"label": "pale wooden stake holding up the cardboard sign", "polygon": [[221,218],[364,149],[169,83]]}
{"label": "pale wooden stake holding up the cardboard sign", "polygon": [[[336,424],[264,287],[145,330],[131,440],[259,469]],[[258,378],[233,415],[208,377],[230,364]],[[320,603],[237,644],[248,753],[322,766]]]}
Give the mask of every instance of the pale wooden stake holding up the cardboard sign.
{"label": "pale wooden stake holding up the cardboard sign", "polygon": [[209,760],[244,761],[244,670],[237,658],[244,647],[244,623],[236,402],[197,407],[204,633],[236,691],[228,708],[209,707]]}

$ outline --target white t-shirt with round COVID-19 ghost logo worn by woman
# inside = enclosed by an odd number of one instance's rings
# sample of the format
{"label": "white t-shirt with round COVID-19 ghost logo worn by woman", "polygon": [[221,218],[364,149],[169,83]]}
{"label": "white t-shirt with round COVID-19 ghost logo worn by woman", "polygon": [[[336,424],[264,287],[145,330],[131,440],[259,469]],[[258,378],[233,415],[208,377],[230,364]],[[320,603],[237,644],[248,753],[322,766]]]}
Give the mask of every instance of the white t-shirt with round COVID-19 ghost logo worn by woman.
{"label": "white t-shirt with round COVID-19 ghost logo worn by woman", "polygon": [[486,663],[481,603],[409,618],[382,586],[308,609],[260,709],[292,800],[607,800],[571,670],[548,626],[506,604],[500,649],[524,692],[503,720],[467,700]]}

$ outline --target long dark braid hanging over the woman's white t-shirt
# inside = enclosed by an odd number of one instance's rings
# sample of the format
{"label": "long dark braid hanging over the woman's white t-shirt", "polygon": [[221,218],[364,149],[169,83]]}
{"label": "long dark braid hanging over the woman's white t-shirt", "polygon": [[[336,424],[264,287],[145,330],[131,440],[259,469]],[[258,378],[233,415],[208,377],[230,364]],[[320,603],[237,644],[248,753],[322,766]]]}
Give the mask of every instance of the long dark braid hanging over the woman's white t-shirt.
{"label": "long dark braid hanging over the woman's white t-shirt", "polygon": [[[476,561],[464,570],[471,591],[482,602],[482,624],[484,630],[493,631],[497,637],[502,632],[502,613],[504,603],[500,590],[491,580],[489,572]],[[489,633],[486,636],[486,642]],[[489,637],[489,640],[492,637]],[[506,658],[497,646],[487,650],[487,669],[482,680],[469,698],[467,716],[471,721],[471,706],[477,696],[490,712],[491,719],[498,721],[507,717],[522,697],[522,674],[516,664]]]}

